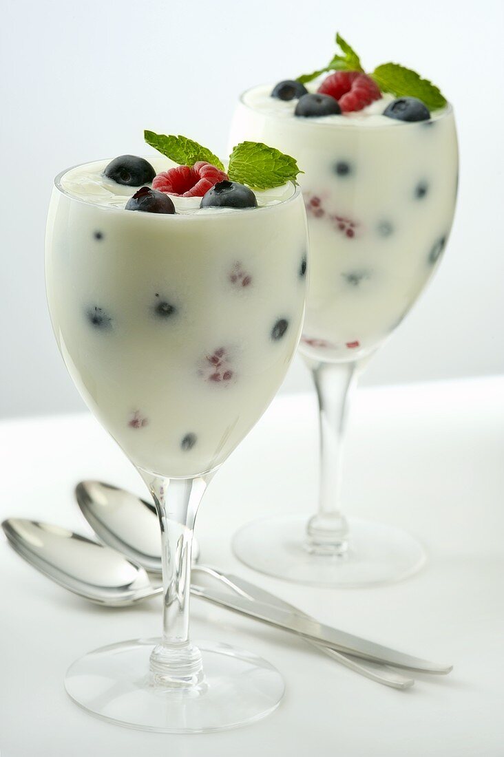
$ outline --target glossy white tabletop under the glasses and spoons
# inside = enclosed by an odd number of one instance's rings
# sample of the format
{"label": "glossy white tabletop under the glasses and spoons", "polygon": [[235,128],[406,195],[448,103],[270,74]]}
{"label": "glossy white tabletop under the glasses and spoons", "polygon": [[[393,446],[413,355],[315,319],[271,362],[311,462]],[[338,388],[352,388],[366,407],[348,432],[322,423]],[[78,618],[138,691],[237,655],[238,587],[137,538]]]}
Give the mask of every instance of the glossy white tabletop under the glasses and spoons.
{"label": "glossy white tabletop under the glasses and spoons", "polygon": [[[0,423],[0,516],[89,533],[73,503],[81,478],[143,494],[130,463],[84,414]],[[240,565],[230,536],[268,512],[315,507],[315,399],[271,405],[223,466],[202,504],[202,559],[232,569],[322,621],[430,659],[448,677],[400,692],[342,668],[247,618],[192,604],[193,637],[226,640],[271,660],[286,679],[280,708],[218,734],[130,731],[67,698],[64,671],[97,646],[158,633],[159,598],[91,606],[35,572],[0,538],[2,757],[465,757],[504,754],[504,378],[363,389],[351,416],[347,512],[408,528],[429,551],[415,577],[389,587],[308,589]]]}

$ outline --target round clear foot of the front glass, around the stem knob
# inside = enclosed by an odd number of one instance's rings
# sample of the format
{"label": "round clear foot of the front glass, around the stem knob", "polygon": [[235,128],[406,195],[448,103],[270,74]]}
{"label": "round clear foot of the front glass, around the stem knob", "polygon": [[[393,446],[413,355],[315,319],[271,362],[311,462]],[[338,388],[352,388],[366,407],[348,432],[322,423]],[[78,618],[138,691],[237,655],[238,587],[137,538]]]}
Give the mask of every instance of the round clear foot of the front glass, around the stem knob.
{"label": "round clear foot of the front glass, around the stem knob", "polygon": [[269,662],[221,643],[199,643],[204,682],[194,689],[157,687],[149,656],[159,639],[104,646],[70,665],[65,687],[74,702],[104,720],[165,734],[221,731],[264,718],[284,684]]}

